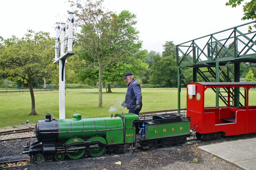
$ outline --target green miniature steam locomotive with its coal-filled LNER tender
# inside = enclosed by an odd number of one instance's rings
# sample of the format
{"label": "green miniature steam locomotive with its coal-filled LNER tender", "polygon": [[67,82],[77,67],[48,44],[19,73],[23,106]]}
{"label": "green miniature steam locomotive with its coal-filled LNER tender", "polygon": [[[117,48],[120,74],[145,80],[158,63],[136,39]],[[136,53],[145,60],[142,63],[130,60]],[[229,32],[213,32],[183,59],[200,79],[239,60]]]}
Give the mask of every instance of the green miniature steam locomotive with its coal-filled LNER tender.
{"label": "green miniature steam locomotive with its coal-filled LNER tender", "polygon": [[84,154],[97,157],[107,150],[131,150],[155,145],[185,143],[190,136],[190,117],[181,114],[164,114],[140,117],[133,113],[111,117],[38,120],[35,126],[37,142],[28,142],[24,154],[35,163],[53,157],[61,161],[67,155],[78,159]]}

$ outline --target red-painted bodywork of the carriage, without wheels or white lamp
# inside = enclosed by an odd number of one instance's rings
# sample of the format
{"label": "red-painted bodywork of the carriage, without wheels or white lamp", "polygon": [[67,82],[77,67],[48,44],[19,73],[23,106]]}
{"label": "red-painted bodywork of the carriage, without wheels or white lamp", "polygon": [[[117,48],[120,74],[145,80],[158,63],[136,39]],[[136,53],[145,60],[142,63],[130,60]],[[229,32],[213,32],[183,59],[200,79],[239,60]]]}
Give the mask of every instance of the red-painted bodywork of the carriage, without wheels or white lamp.
{"label": "red-painted bodywork of the carriage, without wheels or white lamp", "polygon": [[[187,94],[187,116],[191,116],[191,129],[200,134],[224,132],[226,136],[256,133],[256,106],[248,106],[248,91],[251,87],[256,86],[256,82],[189,84],[195,84],[196,94],[201,94],[200,100],[196,99],[196,95],[189,99]],[[247,106],[204,108],[204,92],[209,87],[245,87],[247,89]],[[234,122],[227,122],[224,119],[233,119]]]}

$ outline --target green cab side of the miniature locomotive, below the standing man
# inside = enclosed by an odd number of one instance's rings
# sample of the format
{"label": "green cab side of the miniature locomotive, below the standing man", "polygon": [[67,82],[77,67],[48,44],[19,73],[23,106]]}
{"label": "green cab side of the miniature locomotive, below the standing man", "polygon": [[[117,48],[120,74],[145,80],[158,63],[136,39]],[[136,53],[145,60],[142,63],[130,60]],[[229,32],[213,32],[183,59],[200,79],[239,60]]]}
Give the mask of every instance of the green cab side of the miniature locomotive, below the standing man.
{"label": "green cab side of the miniature locomotive, below the standing man", "polygon": [[133,113],[117,114],[125,121],[125,143],[135,142],[135,130],[133,130],[133,121],[138,120],[139,116]]}

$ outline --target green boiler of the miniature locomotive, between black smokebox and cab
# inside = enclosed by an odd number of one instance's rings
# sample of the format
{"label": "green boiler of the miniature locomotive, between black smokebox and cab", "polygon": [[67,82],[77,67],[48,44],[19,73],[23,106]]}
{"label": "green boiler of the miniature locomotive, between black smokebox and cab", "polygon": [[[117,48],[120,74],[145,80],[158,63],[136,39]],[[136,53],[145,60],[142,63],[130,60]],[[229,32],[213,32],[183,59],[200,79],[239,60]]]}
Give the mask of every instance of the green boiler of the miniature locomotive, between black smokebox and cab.
{"label": "green boiler of the miniature locomotive, between black smokebox and cab", "polygon": [[[130,128],[132,127],[132,119],[138,119],[138,116],[134,114],[127,114],[127,116],[130,117]],[[92,136],[104,137],[109,144],[123,143],[122,118],[115,116],[80,119],[80,114],[76,113],[72,119],[59,120],[59,140],[68,140],[73,137],[90,138]]]}

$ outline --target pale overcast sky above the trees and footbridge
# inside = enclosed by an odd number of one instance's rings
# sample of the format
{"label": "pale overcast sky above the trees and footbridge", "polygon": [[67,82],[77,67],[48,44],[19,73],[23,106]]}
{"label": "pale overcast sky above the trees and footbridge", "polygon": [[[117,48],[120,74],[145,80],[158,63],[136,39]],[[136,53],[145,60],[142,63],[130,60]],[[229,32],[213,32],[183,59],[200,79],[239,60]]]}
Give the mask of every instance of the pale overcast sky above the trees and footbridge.
{"label": "pale overcast sky above the trees and footbridge", "polygon": [[[162,53],[166,41],[179,44],[251,21],[241,20],[242,6],[225,6],[227,1],[104,0],[103,6],[136,14],[143,49]],[[72,9],[66,0],[0,0],[0,36],[21,38],[32,29],[55,37],[55,23],[66,22],[67,11]]]}

